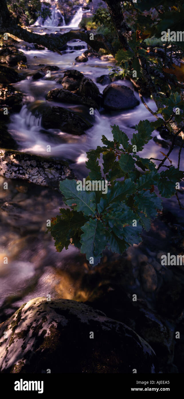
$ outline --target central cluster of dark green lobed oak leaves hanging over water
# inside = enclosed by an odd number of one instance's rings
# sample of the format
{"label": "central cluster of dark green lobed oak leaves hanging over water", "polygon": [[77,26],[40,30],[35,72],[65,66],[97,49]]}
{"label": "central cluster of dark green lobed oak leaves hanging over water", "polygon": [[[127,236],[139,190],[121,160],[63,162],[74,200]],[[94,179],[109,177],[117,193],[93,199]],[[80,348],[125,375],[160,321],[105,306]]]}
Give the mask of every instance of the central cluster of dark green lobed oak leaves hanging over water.
{"label": "central cluster of dark green lobed oak leaves hanging over water", "polygon": [[97,265],[105,247],[122,254],[129,245],[141,242],[142,229],[148,231],[151,220],[162,209],[155,187],[161,197],[169,198],[175,193],[176,182],[184,176],[174,166],[159,173],[151,160],[137,154],[162,122],[161,118],[159,122],[140,121],[131,142],[119,126],[114,125],[113,140],[103,135],[104,145],[87,152],[86,166],[90,172],[86,181],[107,180],[106,194],[95,190],[77,191],[74,179],[60,182],[65,204],[72,210],[61,208],[60,215],[53,218],[48,227],[57,251],[64,247],[68,249],[72,243],[86,254],[88,260],[93,257],[94,265]]}

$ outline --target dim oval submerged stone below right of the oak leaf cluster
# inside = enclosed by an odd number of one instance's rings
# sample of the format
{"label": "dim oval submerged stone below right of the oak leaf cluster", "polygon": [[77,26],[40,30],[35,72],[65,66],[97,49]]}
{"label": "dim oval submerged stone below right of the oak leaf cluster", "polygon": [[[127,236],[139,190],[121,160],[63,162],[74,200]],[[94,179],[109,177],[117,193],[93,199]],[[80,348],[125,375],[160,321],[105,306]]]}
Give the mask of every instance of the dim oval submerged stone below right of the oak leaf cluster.
{"label": "dim oval submerged stone below right of the oak leaf cluster", "polygon": [[141,283],[145,292],[154,292],[157,288],[157,273],[149,263],[141,265]]}

